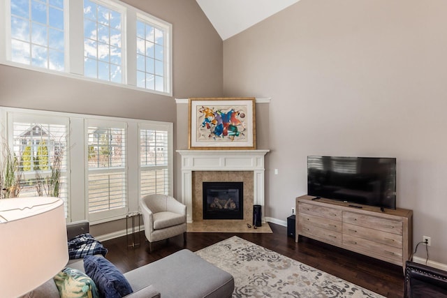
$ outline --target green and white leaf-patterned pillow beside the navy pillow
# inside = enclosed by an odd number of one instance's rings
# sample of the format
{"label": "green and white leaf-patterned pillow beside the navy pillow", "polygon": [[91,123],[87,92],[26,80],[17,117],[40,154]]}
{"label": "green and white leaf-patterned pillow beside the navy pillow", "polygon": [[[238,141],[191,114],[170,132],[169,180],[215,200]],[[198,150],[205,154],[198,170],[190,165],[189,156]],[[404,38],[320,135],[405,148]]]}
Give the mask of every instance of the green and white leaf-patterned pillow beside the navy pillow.
{"label": "green and white leaf-patterned pillow beside the navy pillow", "polygon": [[62,298],[99,298],[98,288],[85,273],[69,267],[54,276]]}

